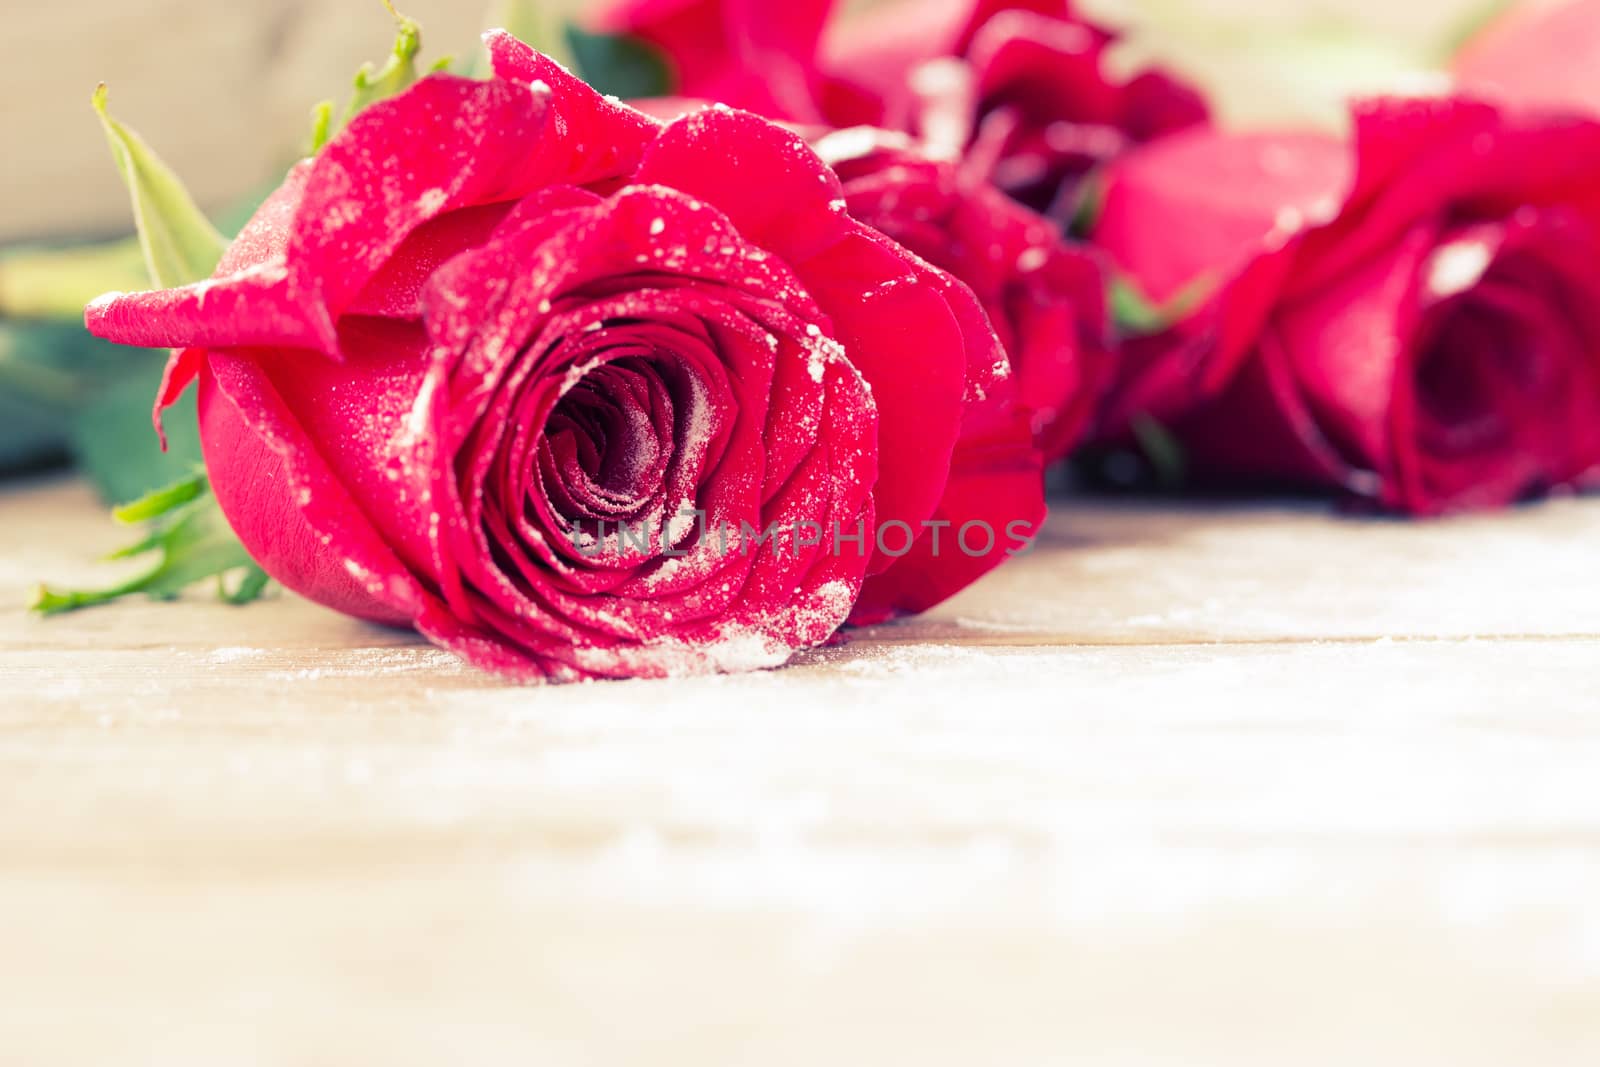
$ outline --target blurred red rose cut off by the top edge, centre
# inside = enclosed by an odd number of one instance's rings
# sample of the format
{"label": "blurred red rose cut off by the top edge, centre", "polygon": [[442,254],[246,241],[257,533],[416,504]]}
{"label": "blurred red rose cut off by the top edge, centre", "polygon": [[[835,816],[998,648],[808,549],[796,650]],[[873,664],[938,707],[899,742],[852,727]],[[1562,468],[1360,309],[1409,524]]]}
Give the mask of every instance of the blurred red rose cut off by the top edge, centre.
{"label": "blurred red rose cut off by the top edge, centre", "polygon": [[1061,224],[1090,170],[1206,120],[1200,94],[1165,74],[1112,77],[1114,35],[1066,0],[899,0],[818,40],[829,6],[621,0],[600,24],[661,48],[682,94],[912,133]]}

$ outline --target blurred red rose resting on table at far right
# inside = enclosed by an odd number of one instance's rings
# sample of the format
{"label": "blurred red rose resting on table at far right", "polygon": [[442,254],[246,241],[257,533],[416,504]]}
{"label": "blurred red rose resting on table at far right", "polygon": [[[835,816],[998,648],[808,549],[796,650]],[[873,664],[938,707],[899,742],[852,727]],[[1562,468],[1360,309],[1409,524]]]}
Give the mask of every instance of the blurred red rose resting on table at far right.
{"label": "blurred red rose resting on table at far right", "polygon": [[1117,435],[1165,421],[1200,475],[1384,507],[1494,507],[1600,462],[1600,125],[1374,101],[1349,149],[1181,134],[1123,160],[1096,229],[1157,301]]}

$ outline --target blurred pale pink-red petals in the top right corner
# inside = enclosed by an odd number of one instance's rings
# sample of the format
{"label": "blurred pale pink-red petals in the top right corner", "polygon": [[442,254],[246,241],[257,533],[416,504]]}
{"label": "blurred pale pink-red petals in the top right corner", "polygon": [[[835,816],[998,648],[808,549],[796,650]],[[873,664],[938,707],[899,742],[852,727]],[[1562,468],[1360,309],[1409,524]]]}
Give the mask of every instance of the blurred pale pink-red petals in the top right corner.
{"label": "blurred pale pink-red petals in the top right corner", "polygon": [[1499,104],[1600,114],[1600,2],[1518,6],[1454,61],[1466,93]]}

